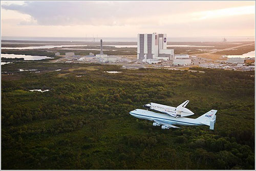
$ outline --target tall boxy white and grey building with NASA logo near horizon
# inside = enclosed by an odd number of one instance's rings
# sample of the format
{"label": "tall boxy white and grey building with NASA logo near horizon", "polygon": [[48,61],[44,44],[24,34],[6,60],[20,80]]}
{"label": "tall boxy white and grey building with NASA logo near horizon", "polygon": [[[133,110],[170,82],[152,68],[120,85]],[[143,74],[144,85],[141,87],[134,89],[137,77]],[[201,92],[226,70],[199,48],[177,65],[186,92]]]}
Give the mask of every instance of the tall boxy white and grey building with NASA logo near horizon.
{"label": "tall boxy white and grey building with NASA logo near horizon", "polygon": [[166,34],[138,34],[137,46],[137,59],[143,62],[174,59],[174,50],[167,49]]}

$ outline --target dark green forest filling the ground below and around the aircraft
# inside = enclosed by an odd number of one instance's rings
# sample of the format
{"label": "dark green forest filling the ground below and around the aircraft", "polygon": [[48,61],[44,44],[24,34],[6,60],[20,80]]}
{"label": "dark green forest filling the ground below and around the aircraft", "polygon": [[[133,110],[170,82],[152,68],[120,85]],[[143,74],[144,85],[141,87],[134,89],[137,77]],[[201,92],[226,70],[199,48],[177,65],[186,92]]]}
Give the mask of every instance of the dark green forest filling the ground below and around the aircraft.
{"label": "dark green forest filling the ground below and around the aircraft", "polygon": [[[255,169],[254,71],[193,69],[204,73],[2,65],[2,169]],[[215,130],[162,130],[129,114],[150,102],[185,100],[191,118],[218,110]]]}

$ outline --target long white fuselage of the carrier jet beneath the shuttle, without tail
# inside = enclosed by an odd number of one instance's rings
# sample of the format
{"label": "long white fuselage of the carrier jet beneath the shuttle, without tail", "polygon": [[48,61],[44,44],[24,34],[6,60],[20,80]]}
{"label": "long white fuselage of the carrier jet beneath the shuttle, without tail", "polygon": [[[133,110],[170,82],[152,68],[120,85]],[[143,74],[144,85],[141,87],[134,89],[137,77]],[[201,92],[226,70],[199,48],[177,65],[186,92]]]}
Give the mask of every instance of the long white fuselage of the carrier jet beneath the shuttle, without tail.
{"label": "long white fuselage of the carrier jet beneath the shuttle, without tail", "polygon": [[156,113],[143,109],[135,109],[130,112],[130,114],[134,117],[138,117],[141,119],[152,120],[154,119],[161,120],[164,123],[168,123],[170,125],[183,125],[183,126],[200,126],[201,124],[199,120],[187,117],[172,117],[168,114]]}

